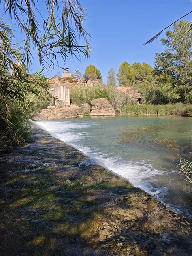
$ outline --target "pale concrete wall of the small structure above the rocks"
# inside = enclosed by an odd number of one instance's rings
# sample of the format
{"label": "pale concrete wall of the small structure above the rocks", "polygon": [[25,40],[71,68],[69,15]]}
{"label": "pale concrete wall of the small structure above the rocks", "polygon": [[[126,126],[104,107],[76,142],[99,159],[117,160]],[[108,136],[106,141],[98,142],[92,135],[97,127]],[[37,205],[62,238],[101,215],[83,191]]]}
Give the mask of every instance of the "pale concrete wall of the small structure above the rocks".
{"label": "pale concrete wall of the small structure above the rocks", "polygon": [[66,104],[70,104],[70,90],[64,86],[57,86],[52,88],[52,96],[58,97],[59,101],[64,101]]}

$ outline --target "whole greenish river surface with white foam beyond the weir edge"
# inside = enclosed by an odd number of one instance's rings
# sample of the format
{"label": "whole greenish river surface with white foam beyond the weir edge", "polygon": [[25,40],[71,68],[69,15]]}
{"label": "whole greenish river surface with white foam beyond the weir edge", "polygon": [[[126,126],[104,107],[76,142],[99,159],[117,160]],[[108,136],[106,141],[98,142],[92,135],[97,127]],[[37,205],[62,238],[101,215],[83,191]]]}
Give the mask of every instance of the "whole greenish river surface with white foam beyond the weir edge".
{"label": "whole greenish river surface with white foam beyond the weir edge", "polygon": [[36,123],[192,218],[190,188],[175,168],[177,154],[187,158],[190,152],[190,117],[87,117]]}

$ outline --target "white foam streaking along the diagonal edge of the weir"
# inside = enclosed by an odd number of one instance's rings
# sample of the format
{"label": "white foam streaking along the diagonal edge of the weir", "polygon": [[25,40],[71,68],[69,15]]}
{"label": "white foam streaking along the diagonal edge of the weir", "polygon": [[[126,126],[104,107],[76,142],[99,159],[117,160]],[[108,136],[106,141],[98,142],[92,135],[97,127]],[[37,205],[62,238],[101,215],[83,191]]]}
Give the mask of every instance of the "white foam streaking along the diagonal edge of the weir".
{"label": "white foam streaking along the diagonal edge of the weir", "polygon": [[[168,196],[169,189],[165,186],[160,185],[157,182],[157,177],[160,175],[169,175],[170,173],[175,173],[176,170],[172,169],[163,169],[160,170],[154,168],[149,162],[145,160],[142,161],[132,161],[124,160],[121,155],[115,156],[109,152],[105,154],[102,152],[102,147],[96,148],[96,144],[86,145],[84,140],[91,135],[89,132],[81,132],[81,128],[89,128],[96,124],[92,123],[83,123],[82,121],[40,121],[36,122],[38,126],[49,132],[53,137],[56,137],[76,149],[83,152],[83,154],[90,156],[93,161],[83,162],[82,166],[88,166],[89,164],[100,164],[101,166],[109,169],[110,171],[116,173],[117,175],[124,177],[133,186],[143,189],[149,194],[155,196],[163,203],[165,202],[164,198]],[[99,128],[99,127],[98,127]],[[80,131],[79,131],[80,129]],[[78,130],[78,132],[77,132]],[[89,138],[88,138],[89,139]],[[95,138],[94,138],[95,139]],[[166,206],[171,208],[177,213],[182,213],[182,210],[179,207],[172,205],[171,203],[166,203]],[[187,209],[185,211],[186,215]]]}

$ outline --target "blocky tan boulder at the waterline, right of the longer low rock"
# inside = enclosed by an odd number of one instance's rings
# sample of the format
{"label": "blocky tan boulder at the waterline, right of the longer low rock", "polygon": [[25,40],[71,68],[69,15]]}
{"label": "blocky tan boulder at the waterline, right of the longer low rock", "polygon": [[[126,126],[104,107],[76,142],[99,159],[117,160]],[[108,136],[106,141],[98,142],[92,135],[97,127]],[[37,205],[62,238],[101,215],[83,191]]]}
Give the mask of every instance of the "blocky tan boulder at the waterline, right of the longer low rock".
{"label": "blocky tan boulder at the waterline, right of the longer low rock", "polygon": [[95,115],[115,115],[115,109],[106,98],[91,101],[91,116]]}

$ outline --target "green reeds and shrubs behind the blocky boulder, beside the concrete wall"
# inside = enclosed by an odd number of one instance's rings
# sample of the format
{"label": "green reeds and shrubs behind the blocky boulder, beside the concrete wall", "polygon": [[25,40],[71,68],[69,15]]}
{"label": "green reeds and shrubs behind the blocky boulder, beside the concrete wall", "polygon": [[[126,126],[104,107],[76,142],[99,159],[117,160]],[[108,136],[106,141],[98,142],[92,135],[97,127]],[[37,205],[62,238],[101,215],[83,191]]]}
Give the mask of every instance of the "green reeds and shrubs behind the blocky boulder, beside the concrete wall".
{"label": "green reeds and shrubs behind the blocky boulder, beside the concrete wall", "polygon": [[95,85],[85,87],[84,85],[74,85],[70,87],[71,102],[81,106],[82,104],[90,104],[92,100],[98,98],[107,98],[114,107],[115,112],[119,113],[120,108],[126,104],[132,104],[132,100],[128,95],[118,90],[115,86]]}

